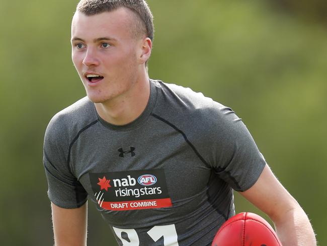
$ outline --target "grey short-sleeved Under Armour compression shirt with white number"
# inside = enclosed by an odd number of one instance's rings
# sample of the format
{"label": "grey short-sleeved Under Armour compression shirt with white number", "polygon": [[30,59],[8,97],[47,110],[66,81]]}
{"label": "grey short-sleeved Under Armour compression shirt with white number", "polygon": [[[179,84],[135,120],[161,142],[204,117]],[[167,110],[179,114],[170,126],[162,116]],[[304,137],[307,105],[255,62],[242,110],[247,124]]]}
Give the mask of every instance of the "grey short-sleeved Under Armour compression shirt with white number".
{"label": "grey short-sleeved Under Armour compression shirt with white number", "polygon": [[266,162],[240,118],[201,93],[150,80],[143,113],[115,126],[83,98],[57,113],[44,140],[49,199],[92,200],[120,246],[210,245],[234,215],[232,190]]}

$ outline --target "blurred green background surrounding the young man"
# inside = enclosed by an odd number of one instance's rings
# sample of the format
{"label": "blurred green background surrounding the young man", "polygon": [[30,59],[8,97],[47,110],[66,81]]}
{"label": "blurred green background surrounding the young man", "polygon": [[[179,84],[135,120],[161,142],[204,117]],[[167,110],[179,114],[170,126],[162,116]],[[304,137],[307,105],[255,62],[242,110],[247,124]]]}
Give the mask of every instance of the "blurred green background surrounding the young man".
{"label": "blurred green background surrounding the young man", "polygon": [[[42,144],[50,118],[85,96],[70,59],[76,4],[0,2],[2,245],[52,245]],[[156,30],[150,77],[191,87],[232,107],[309,215],[319,245],[327,245],[327,3],[148,4]],[[263,215],[235,196],[236,212]],[[88,242],[116,245],[91,203]]]}

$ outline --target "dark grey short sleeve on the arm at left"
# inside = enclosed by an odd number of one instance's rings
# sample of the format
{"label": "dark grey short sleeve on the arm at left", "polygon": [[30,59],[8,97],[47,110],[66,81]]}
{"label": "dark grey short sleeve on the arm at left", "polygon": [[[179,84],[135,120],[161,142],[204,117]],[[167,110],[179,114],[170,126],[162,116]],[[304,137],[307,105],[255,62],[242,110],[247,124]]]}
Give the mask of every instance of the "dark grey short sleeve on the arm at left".
{"label": "dark grey short sleeve on the arm at left", "polygon": [[69,137],[65,122],[54,116],[47,127],[43,146],[48,197],[59,207],[78,208],[87,201],[87,192],[70,170],[68,151]]}

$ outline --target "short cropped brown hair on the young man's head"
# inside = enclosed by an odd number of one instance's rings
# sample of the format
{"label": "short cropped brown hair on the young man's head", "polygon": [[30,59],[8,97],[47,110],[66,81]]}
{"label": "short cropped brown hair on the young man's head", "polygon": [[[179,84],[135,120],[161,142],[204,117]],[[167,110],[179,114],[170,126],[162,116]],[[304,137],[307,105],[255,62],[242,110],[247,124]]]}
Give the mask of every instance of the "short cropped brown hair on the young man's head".
{"label": "short cropped brown hair on the young man's head", "polygon": [[133,11],[139,18],[140,23],[135,25],[134,32],[137,35],[144,33],[153,41],[153,16],[144,0],[80,0],[76,11],[91,16],[110,12],[125,7]]}

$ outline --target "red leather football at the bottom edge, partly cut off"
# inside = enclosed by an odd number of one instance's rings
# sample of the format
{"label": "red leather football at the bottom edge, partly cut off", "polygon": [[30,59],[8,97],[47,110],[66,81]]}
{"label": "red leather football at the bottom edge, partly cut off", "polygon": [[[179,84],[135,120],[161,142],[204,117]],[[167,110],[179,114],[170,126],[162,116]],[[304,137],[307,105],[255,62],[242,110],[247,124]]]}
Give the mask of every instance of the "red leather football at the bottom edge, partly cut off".
{"label": "red leather football at the bottom edge, partly cut off", "polygon": [[222,224],[211,246],[281,246],[273,227],[254,213],[243,212]]}

